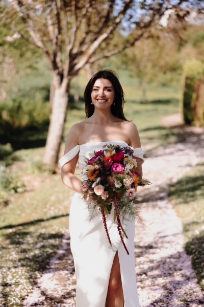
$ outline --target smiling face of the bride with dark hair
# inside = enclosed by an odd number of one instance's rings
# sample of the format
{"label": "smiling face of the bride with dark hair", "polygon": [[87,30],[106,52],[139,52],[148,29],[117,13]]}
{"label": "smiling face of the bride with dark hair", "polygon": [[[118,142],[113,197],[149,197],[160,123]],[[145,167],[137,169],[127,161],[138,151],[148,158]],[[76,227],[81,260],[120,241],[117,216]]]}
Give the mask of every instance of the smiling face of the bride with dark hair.
{"label": "smiling face of the bride with dark hair", "polygon": [[91,91],[91,100],[99,109],[110,108],[115,97],[113,84],[108,79],[97,79]]}

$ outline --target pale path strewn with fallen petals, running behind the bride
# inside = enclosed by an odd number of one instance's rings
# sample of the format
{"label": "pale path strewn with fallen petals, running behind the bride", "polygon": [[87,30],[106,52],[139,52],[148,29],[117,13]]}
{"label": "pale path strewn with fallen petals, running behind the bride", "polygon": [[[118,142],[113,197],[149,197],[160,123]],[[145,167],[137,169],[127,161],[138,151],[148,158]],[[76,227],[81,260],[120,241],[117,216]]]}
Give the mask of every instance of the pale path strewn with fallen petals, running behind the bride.
{"label": "pale path strewn with fallen petals, running behind the bride", "polygon": [[[139,191],[146,225],[137,225],[135,235],[141,307],[204,305],[190,257],[184,251],[180,218],[167,199],[168,185],[203,157],[203,130],[191,132],[184,142],[152,152],[143,165],[144,175],[154,184]],[[67,233],[24,306],[75,306],[75,282]]]}

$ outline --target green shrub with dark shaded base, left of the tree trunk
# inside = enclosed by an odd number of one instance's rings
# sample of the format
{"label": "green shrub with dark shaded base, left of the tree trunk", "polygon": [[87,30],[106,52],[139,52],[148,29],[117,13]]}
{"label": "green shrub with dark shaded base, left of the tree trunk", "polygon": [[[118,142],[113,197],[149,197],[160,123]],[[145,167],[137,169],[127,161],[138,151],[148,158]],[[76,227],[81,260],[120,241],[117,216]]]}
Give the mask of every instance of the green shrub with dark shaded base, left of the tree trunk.
{"label": "green shrub with dark shaded base, left of the tree trunk", "polygon": [[[42,100],[32,101],[29,97],[13,98],[0,103],[0,137],[2,142],[11,143],[19,148],[20,144],[46,138],[44,133],[36,136],[40,131],[47,131],[50,107]],[[29,144],[28,144],[29,145]]]}

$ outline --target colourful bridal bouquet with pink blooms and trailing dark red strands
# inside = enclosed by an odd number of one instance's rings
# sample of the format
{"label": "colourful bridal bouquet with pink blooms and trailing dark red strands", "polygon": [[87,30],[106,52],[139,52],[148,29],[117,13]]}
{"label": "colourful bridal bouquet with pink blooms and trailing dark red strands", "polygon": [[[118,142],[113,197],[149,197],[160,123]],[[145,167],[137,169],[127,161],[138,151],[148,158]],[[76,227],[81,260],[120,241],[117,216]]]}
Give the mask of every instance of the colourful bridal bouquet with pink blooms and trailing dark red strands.
{"label": "colourful bridal bouquet with pink blooms and trailing dark red strands", "polygon": [[114,206],[114,221],[117,221],[121,242],[129,254],[123,240],[127,235],[121,221],[135,215],[141,220],[139,210],[134,208],[136,191],[138,186],[147,185],[149,181],[139,177],[136,170],[137,161],[133,157],[134,150],[131,147],[106,144],[103,148],[95,151],[83,168],[83,199],[101,212],[111,246],[106,215],[110,214]]}

